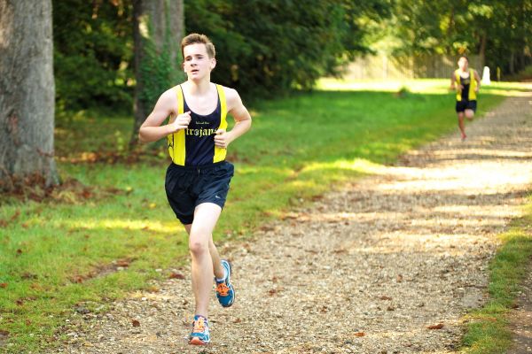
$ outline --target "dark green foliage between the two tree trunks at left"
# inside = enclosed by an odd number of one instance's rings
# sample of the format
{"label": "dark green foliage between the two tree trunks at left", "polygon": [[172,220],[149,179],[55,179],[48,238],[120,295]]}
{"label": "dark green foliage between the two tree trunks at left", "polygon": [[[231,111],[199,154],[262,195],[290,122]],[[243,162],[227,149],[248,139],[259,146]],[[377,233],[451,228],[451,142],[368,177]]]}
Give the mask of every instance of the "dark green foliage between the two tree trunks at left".
{"label": "dark green foliage between the two tree trunks at left", "polygon": [[130,1],[53,0],[54,74],[59,111],[132,107]]}

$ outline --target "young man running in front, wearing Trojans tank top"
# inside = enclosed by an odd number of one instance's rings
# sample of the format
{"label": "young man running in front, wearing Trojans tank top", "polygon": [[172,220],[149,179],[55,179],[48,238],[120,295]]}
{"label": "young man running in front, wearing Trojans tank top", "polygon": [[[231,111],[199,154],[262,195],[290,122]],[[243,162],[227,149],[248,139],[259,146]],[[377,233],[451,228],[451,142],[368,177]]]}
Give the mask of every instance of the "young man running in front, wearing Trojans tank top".
{"label": "young man running in front, wearing Trojans tank top", "polygon": [[[235,299],[231,265],[221,260],[212,232],[222,212],[233,165],[225,161],[227,147],[251,127],[251,117],[234,89],[210,81],[215,68],[215,46],[205,35],[192,34],[181,42],[183,69],[188,80],[164,92],[140,127],[141,142],[168,137],[165,189],[172,210],[189,234],[195,316],[191,344],[210,341],[207,310],[213,273],[216,296],[222,306]],[[235,126],[226,131],[226,114]],[[170,117],[167,125],[162,122]]]}

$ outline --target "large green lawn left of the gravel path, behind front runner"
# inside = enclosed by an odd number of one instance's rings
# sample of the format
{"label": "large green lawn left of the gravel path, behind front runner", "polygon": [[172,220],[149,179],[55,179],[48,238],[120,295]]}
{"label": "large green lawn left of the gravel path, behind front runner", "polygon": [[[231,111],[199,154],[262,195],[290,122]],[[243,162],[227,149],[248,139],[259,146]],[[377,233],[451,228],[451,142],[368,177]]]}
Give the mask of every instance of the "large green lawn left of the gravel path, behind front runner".
{"label": "large green lawn left of the gravel path, behind front runner", "polygon": [[[403,96],[325,88],[255,104],[252,130],[230,147],[236,175],[215,239],[251,235],[294,205],[368,173],[367,165],[392,163],[451,131],[458,139],[446,85],[431,81],[426,92],[412,87]],[[504,98],[488,91],[479,115]],[[168,158],[90,163],[95,152],[123,151],[131,125],[130,117],[94,112],[60,119],[60,173],[90,193],[65,190],[55,202],[2,204],[0,330],[9,333],[9,352],[57,344],[66,339],[59,329],[76,304],[105,311],[101,304],[168,277],[166,269],[187,259],[186,236],[164,194]],[[124,259],[129,267],[108,272]]]}

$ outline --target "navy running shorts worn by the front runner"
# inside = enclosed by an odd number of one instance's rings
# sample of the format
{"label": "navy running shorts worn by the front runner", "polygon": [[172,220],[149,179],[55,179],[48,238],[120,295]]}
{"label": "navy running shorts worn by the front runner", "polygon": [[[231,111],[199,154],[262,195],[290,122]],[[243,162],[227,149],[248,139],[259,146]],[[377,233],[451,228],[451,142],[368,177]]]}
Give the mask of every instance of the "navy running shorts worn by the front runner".
{"label": "navy running shorts worn by the front runner", "polygon": [[223,208],[233,174],[234,166],[227,161],[203,166],[168,165],[164,187],[176,218],[189,225],[198,205],[214,203]]}

